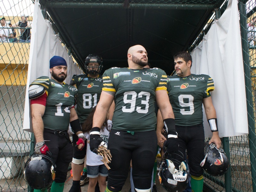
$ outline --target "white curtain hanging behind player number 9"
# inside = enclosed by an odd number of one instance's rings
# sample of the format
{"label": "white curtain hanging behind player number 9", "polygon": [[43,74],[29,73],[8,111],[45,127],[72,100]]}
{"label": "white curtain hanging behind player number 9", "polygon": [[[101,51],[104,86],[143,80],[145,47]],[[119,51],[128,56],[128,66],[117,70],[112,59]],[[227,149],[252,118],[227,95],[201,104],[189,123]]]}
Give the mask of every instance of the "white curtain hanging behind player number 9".
{"label": "white curtain hanging behind player number 9", "polygon": [[[215,20],[203,41],[193,50],[194,74],[207,74],[214,80],[213,105],[217,112],[220,137],[248,134],[244,68],[236,0],[219,20]],[[205,137],[211,137],[204,115]]]}

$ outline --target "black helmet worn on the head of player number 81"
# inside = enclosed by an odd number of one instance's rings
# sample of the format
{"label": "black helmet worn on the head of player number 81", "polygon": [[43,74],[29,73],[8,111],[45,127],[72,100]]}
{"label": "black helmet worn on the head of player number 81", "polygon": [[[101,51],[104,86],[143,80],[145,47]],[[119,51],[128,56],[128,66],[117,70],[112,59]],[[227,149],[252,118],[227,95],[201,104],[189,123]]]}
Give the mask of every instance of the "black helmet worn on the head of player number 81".
{"label": "black helmet worn on the head of player number 81", "polygon": [[[99,63],[99,66],[88,66],[89,63]],[[102,64],[102,58],[100,55],[97,54],[90,54],[86,57],[84,67],[85,67],[85,72],[91,75],[96,75],[101,72],[101,69],[103,68]]]}

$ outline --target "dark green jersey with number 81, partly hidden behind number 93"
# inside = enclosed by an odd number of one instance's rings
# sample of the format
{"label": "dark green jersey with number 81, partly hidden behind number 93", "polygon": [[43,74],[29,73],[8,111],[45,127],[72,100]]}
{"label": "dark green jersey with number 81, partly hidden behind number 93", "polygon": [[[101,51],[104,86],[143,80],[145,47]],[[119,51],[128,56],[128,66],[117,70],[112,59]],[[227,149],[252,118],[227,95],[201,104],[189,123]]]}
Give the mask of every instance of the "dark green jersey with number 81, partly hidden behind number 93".
{"label": "dark green jersey with number 81, partly hidden behind number 93", "polygon": [[80,123],[84,123],[100,100],[100,94],[103,87],[102,76],[91,78],[88,75],[74,75],[72,80],[78,89],[76,96],[76,113]]}

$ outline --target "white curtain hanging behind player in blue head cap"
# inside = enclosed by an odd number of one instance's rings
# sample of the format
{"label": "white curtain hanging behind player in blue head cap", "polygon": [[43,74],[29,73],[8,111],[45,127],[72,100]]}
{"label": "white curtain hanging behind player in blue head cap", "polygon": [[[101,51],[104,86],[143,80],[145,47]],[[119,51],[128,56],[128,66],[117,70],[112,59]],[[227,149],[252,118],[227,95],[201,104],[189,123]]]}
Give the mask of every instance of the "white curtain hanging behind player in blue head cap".
{"label": "white curtain hanging behind player in blue head cap", "polygon": [[24,108],[23,130],[32,132],[31,116],[29,110],[28,87],[40,76],[51,76],[49,61],[54,56],[63,57],[67,61],[68,74],[65,83],[69,83],[74,74],[81,74],[79,68],[69,57],[67,49],[63,48],[58,35],[54,34],[52,23],[44,20],[39,1],[35,1],[33,23],[31,30],[31,43],[28,64],[26,98]]}

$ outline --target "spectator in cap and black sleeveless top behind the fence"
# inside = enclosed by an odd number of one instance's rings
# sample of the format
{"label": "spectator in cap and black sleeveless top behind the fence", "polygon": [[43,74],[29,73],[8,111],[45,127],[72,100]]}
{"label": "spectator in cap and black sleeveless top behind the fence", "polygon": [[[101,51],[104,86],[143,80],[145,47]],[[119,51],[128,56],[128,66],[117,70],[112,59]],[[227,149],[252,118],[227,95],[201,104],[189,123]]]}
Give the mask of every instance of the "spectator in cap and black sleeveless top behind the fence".
{"label": "spectator in cap and black sleeveless top behind the fence", "polygon": [[20,28],[20,43],[30,43],[30,23],[28,15],[21,15],[21,21],[12,25],[13,28]]}

